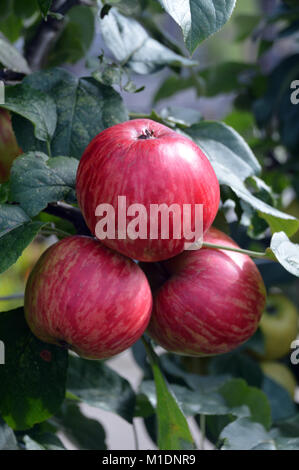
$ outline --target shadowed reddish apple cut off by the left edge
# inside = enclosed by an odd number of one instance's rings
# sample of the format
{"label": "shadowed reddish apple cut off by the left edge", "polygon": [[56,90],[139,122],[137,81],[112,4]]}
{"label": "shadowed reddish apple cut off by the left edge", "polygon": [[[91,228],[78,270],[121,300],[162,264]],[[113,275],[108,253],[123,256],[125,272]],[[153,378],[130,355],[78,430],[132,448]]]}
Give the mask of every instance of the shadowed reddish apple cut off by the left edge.
{"label": "shadowed reddish apple cut off by the left edge", "polygon": [[0,183],[5,183],[9,179],[12,162],[21,153],[11,125],[10,114],[0,108]]}

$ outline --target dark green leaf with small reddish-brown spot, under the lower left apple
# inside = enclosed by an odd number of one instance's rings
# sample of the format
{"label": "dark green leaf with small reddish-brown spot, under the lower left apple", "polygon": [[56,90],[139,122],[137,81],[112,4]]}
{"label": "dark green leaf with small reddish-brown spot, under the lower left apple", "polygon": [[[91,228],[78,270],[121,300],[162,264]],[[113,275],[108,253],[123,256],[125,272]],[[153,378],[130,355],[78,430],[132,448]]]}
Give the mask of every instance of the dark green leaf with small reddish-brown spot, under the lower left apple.
{"label": "dark green leaf with small reddish-brown spot, under the lower left apple", "polygon": [[1,313],[0,337],[0,413],[10,427],[24,430],[49,418],[64,400],[67,352],[35,338],[23,308]]}

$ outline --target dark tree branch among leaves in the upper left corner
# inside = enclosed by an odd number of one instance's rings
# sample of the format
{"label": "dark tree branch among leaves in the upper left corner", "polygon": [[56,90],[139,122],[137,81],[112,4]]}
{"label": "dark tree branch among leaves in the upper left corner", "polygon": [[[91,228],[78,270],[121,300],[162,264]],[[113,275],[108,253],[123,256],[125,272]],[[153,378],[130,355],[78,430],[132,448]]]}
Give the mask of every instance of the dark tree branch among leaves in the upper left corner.
{"label": "dark tree branch among leaves in the upper left corner", "polygon": [[[66,0],[61,4],[61,0],[54,0],[51,11],[65,15],[80,3],[80,0]],[[51,16],[42,20],[32,40],[25,48],[25,57],[31,70],[39,70],[46,64],[49,53],[59,38],[64,25],[64,19],[58,20]]]}

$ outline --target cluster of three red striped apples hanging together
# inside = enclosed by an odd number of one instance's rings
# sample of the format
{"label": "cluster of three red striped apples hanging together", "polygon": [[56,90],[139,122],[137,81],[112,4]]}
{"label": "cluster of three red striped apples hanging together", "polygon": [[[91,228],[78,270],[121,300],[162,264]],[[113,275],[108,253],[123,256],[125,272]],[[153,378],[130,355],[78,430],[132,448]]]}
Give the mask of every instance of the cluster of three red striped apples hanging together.
{"label": "cluster of three red striped apples hanging together", "polygon": [[[77,197],[93,235],[96,208],[110,204],[118,213],[118,196],[146,208],[202,204],[204,241],[238,248],[211,227],[220,190],[209,160],[191,140],[164,125],[145,119],[117,124],[85,150]],[[178,354],[209,356],[236,348],[256,331],[264,310],[260,273],[242,253],[206,247],[184,251],[187,240],[181,235],[164,239],[160,229],[156,239],[99,241],[77,235],[52,245],[26,286],[31,330],[91,359],[124,351],[145,331]],[[151,289],[140,262],[163,266],[167,277],[158,289]]]}

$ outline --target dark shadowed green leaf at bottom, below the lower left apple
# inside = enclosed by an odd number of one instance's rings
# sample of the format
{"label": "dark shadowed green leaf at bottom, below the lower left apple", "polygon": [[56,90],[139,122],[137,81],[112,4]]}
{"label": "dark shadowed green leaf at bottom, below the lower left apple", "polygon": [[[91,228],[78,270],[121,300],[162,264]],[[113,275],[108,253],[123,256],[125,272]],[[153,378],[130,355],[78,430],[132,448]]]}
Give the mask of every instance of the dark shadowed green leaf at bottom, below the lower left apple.
{"label": "dark shadowed green leaf at bottom, below the lower left apple", "polygon": [[105,450],[106,434],[95,419],[87,418],[76,403],[65,401],[61,411],[52,418],[69,441],[80,450]]}

